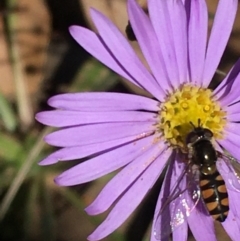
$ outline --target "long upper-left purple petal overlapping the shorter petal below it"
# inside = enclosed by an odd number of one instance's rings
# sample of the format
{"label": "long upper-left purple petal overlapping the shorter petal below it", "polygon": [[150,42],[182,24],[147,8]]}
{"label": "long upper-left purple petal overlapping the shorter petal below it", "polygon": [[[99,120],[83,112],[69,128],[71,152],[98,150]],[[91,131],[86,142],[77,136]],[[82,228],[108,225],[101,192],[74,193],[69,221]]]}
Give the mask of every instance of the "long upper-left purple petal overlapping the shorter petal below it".
{"label": "long upper-left purple petal overlapping the shorter petal below it", "polygon": [[159,88],[154,77],[147,71],[122,33],[97,10],[92,9],[91,16],[102,40],[119,61],[119,64],[142,88],[158,100],[163,100],[164,92]]}

